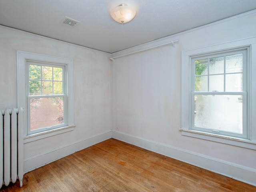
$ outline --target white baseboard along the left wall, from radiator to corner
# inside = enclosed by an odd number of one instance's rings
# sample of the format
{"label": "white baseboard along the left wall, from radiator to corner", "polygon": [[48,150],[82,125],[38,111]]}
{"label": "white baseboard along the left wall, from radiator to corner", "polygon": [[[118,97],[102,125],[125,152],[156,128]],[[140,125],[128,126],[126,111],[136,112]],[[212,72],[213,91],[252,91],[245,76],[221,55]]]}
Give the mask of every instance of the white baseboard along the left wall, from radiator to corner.
{"label": "white baseboard along the left wall, from radiator to corner", "polygon": [[62,148],[57,148],[54,151],[44,152],[43,154],[26,158],[24,159],[24,172],[30,172],[36,168],[49,164],[50,162],[56,161],[74,152],[88,148],[110,138],[112,138],[112,131],[92,136]]}

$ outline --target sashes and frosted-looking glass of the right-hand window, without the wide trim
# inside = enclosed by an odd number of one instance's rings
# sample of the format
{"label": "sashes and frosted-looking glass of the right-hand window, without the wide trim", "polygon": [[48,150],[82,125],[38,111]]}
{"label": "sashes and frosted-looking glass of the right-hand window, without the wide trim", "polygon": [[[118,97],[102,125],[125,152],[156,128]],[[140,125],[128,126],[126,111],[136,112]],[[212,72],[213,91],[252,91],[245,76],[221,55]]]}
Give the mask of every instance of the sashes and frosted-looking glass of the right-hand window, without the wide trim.
{"label": "sashes and frosted-looking glass of the right-hand window, without the wide trim", "polygon": [[191,57],[191,129],[247,138],[247,49]]}

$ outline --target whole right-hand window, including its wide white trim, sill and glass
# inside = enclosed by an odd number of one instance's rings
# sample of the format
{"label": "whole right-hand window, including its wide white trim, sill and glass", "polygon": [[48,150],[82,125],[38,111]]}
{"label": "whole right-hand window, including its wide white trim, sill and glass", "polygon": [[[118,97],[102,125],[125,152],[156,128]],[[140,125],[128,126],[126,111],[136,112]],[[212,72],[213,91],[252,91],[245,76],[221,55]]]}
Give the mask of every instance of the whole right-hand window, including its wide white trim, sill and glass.
{"label": "whole right-hand window, including its wide white trim, sill and glass", "polygon": [[256,37],[182,52],[181,133],[256,149]]}

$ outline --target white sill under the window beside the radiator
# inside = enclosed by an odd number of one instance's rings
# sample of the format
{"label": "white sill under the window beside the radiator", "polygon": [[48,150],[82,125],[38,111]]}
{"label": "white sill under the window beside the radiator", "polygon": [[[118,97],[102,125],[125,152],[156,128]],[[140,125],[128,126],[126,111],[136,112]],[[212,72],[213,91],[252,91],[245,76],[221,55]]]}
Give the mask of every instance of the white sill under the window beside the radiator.
{"label": "white sill under the window beside the radiator", "polygon": [[36,141],[36,140],[40,140],[40,139],[43,139],[43,138],[51,137],[51,136],[54,136],[54,135],[58,135],[58,134],[62,134],[62,133],[72,131],[72,130],[74,130],[74,127],[75,127],[75,125],[66,126],[66,127],[61,127],[61,128],[54,129],[54,130],[44,131],[44,132],[40,132],[40,133],[25,136],[24,137],[24,144],[29,143],[29,142],[33,142],[33,141]]}

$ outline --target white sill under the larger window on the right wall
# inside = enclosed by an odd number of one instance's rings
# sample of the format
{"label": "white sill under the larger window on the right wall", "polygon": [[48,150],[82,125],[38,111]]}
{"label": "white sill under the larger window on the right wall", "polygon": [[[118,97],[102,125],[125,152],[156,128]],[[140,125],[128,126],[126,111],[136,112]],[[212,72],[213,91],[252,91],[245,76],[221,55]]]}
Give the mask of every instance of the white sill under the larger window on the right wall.
{"label": "white sill under the larger window on the right wall", "polygon": [[243,138],[235,138],[235,137],[228,137],[224,135],[218,135],[218,134],[210,134],[207,132],[201,132],[196,130],[186,130],[186,129],[180,129],[181,134],[184,136],[190,136],[194,138],[200,138],[204,140],[249,148],[256,150],[256,141],[243,139]]}

